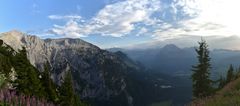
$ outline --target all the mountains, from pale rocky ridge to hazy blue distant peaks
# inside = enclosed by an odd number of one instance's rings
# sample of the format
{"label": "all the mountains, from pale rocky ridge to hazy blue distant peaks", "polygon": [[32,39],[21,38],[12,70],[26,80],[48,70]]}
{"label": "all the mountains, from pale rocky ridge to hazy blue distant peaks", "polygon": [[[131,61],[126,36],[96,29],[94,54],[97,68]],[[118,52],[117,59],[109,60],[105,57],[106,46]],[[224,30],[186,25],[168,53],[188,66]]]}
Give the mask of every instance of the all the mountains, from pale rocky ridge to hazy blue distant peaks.
{"label": "all the mountains, from pale rocky ridge to hazy blue distant peaks", "polygon": [[[194,47],[104,50],[81,39],[41,39],[20,31],[2,33],[0,39],[15,51],[25,47],[29,61],[40,71],[49,62],[57,85],[71,71],[75,92],[93,106],[184,105],[192,98]],[[210,55],[213,78],[224,75],[228,65],[240,64],[237,50],[214,49]]]}

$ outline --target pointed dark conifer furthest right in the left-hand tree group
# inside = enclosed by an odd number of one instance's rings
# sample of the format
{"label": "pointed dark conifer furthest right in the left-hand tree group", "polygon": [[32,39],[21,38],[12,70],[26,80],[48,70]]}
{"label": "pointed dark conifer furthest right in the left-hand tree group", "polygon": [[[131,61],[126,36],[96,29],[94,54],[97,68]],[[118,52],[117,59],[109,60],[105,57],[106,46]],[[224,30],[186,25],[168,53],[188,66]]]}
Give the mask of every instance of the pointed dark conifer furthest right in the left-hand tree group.
{"label": "pointed dark conifer furthest right in the left-hand tree group", "polygon": [[74,88],[72,84],[72,75],[71,72],[68,71],[65,75],[63,83],[60,87],[60,95],[61,95],[61,105],[63,106],[74,106]]}

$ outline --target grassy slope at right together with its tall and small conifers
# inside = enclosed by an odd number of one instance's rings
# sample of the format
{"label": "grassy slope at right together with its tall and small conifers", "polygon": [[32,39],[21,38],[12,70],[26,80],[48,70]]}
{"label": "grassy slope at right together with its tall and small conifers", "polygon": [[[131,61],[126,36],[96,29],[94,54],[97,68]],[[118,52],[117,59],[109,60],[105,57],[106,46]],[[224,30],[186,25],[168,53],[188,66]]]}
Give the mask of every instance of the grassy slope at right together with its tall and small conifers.
{"label": "grassy slope at right together with its tall and small conifers", "polygon": [[[230,65],[226,77],[210,79],[210,57],[206,41],[199,42],[198,64],[193,66],[193,101],[191,106],[238,106],[240,105],[240,69]],[[217,86],[218,85],[218,86]]]}

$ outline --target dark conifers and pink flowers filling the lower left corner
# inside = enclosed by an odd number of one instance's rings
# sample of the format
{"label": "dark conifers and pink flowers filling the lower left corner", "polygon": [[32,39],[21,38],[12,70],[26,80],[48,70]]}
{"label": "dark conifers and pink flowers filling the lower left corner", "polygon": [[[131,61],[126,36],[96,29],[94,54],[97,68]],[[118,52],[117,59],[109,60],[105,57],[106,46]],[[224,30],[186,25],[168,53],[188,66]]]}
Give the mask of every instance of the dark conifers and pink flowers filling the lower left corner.
{"label": "dark conifers and pink flowers filling the lower left corner", "polygon": [[75,94],[71,71],[59,86],[51,79],[50,69],[46,63],[40,72],[27,59],[25,48],[16,52],[0,40],[0,105],[86,105]]}

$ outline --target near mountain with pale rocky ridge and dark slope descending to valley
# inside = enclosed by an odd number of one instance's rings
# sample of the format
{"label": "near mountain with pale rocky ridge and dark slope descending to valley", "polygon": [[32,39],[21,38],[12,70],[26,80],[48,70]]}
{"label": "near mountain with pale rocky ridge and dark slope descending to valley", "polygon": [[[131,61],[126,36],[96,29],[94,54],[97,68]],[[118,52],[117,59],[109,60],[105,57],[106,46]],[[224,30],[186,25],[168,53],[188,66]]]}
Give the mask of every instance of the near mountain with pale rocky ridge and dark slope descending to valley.
{"label": "near mountain with pale rocky ridge and dark slope descending to valley", "polygon": [[[145,106],[172,100],[172,91],[181,86],[173,84],[180,79],[152,73],[123,52],[109,52],[81,39],[41,39],[19,31],[2,33],[0,39],[15,51],[25,47],[27,58],[40,71],[48,62],[58,85],[71,71],[75,92],[91,105]],[[174,98],[173,102],[184,103],[189,98]]]}

